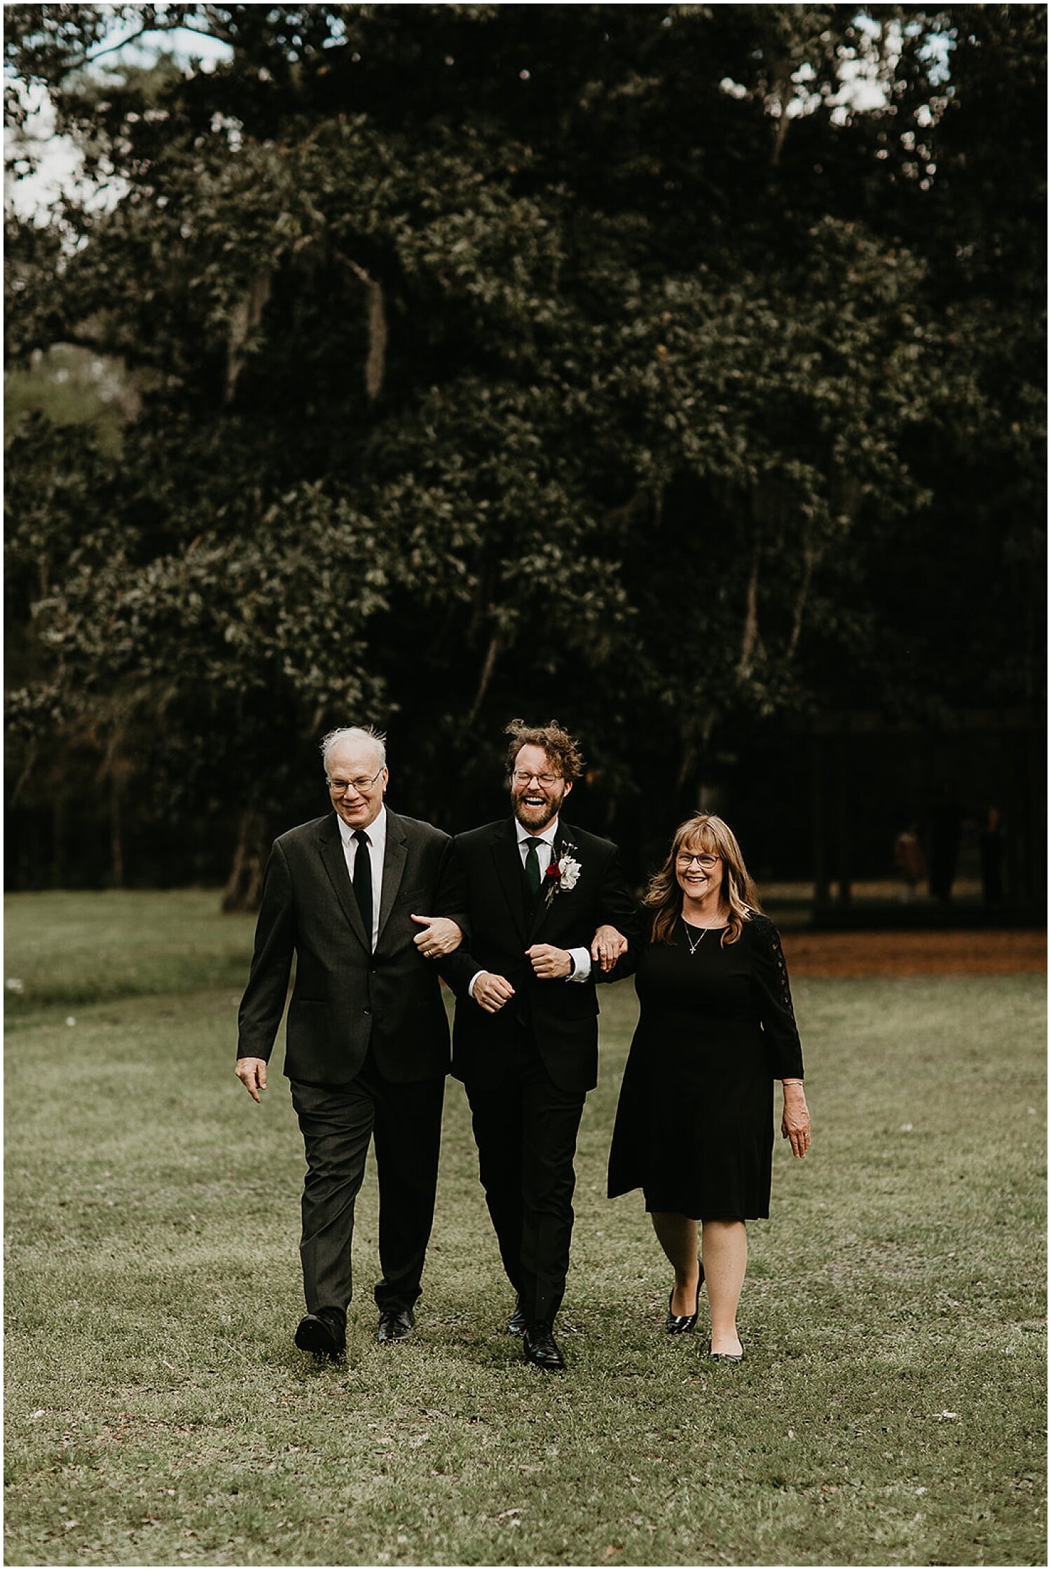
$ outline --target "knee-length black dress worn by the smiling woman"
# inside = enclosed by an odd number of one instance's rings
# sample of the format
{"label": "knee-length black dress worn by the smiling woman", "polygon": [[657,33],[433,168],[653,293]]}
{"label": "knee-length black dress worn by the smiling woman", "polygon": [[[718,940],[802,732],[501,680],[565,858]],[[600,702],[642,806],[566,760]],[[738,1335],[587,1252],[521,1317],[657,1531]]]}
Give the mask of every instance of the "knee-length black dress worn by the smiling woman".
{"label": "knee-length black dress worn by the smiling woman", "polygon": [[643,950],[608,1192],[743,1221],[770,1215],[773,1082],[801,1079],[803,1052],[773,922],[753,917],[729,945],[702,931],[679,922],[672,945]]}

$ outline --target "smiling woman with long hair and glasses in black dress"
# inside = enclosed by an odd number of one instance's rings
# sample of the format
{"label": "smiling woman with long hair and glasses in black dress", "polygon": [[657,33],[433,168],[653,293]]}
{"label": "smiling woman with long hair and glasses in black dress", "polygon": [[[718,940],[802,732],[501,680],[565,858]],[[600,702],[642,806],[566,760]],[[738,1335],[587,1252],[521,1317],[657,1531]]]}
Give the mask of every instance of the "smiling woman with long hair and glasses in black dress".
{"label": "smiling woman with long hair and glasses in black dress", "polygon": [[800,1157],[811,1143],[789,973],[721,818],[699,813],[679,827],[644,904],[650,936],[635,981],[639,1022],[613,1130],[610,1198],[643,1190],[676,1272],[666,1330],[693,1330],[707,1281],[709,1350],[740,1363],[745,1221],[770,1215],[775,1079],[784,1086],[782,1138]]}

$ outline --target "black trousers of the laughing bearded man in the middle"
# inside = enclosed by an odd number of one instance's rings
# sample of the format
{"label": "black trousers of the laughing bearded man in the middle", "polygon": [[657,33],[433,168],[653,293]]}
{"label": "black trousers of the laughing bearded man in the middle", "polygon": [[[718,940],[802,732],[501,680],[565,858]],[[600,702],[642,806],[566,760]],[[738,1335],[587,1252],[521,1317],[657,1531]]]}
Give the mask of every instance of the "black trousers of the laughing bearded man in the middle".
{"label": "black trousers of the laughing bearded man in the middle", "polygon": [[506,1075],[468,1080],[478,1170],[507,1280],[529,1320],[555,1319],[573,1234],[573,1156],[586,1091],[564,1091],[528,1030]]}

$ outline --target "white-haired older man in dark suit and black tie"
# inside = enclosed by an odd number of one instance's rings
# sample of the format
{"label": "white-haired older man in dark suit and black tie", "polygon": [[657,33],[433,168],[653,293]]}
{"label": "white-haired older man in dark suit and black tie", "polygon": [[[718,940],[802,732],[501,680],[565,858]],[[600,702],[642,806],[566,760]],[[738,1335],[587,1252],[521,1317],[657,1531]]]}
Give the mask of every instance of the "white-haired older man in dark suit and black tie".
{"label": "white-haired older man in dark suit and black tie", "polygon": [[284,1072],[308,1168],[300,1243],[308,1313],[295,1344],[339,1356],[353,1201],[371,1140],[380,1190],[377,1339],[404,1341],[413,1327],[449,1069],[435,961],[462,939],[465,887],[448,834],[386,810],[382,735],[336,730],[322,750],[335,810],[273,843],[236,1074],[259,1101],[295,956]]}

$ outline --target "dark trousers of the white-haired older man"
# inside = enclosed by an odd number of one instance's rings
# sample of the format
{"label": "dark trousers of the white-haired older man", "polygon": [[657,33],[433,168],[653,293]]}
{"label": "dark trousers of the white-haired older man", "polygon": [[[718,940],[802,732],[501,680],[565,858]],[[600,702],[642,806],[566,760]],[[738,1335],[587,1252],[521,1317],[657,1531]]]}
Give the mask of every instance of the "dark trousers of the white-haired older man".
{"label": "dark trousers of the white-haired older man", "polygon": [[324,1308],[346,1317],[353,1201],[369,1140],[375,1141],[380,1188],[375,1303],[380,1309],[412,1308],[434,1221],[445,1079],[394,1085],[369,1052],[350,1085],[291,1085],[306,1152],[300,1259],[308,1313]]}

